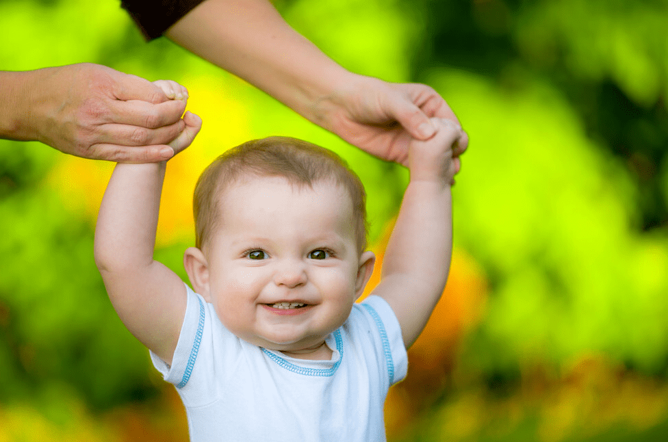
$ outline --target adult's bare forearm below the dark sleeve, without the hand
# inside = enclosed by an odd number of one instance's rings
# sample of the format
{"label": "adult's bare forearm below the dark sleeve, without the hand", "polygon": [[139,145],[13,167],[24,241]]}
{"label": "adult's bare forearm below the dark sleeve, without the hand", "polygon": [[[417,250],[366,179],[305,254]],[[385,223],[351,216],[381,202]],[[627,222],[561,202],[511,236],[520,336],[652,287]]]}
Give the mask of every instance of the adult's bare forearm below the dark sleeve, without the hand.
{"label": "adult's bare forearm below the dark sleeve, without the hand", "polygon": [[298,34],[266,0],[208,0],[166,36],[318,122],[318,103],[357,78]]}

